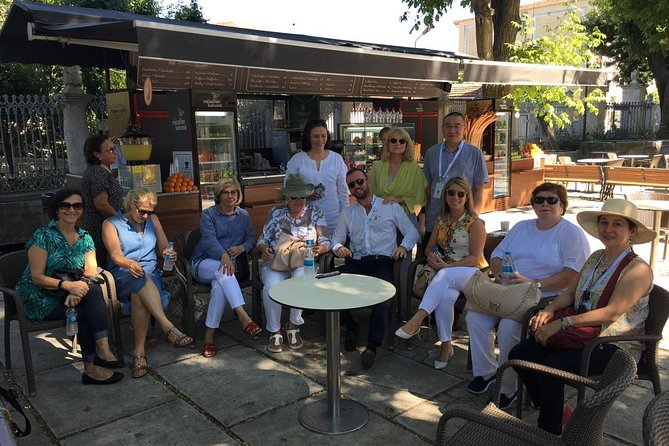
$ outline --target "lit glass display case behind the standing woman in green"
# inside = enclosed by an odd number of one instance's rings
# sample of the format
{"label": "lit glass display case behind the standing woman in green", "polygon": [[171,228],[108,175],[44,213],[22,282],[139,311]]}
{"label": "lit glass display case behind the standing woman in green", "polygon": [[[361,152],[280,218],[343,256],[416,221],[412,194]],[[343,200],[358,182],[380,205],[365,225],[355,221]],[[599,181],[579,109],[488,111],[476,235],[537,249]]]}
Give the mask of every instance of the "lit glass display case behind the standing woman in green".
{"label": "lit glass display case behind the standing woman in green", "polygon": [[379,132],[384,127],[402,127],[412,140],[416,140],[414,123],[394,124],[339,124],[339,138],[344,141],[342,156],[351,167],[365,168],[373,161],[380,159],[382,143]]}

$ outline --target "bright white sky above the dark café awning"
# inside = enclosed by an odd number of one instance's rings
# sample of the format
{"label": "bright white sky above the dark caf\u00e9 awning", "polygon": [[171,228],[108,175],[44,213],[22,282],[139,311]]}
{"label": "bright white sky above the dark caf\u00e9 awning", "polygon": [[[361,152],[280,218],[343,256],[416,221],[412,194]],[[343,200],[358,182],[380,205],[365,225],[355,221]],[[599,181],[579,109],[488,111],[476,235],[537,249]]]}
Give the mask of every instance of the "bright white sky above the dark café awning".
{"label": "bright white sky above the dark caf\u00e9 awning", "polygon": [[473,17],[457,6],[416,42],[420,31],[409,33],[413,21],[399,20],[407,10],[401,0],[198,0],[198,4],[209,23],[234,22],[240,28],[446,51],[458,50],[453,21]]}

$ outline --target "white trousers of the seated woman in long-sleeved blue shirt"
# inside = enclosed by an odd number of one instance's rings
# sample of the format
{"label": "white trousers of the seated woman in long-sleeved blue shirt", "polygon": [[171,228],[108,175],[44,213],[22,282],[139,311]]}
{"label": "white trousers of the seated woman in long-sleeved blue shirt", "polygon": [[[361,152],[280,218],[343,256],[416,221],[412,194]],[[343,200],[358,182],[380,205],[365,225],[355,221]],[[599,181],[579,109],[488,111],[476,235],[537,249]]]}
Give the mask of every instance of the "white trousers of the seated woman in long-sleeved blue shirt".
{"label": "white trousers of the seated woman in long-sleeved blue shirt", "polygon": [[218,260],[205,259],[200,262],[197,269],[198,281],[211,284],[211,300],[205,321],[208,328],[218,328],[221,324],[226,303],[229,303],[232,309],[246,303],[237,278],[234,275],[228,276],[223,270],[219,270],[220,265],[221,262]]}

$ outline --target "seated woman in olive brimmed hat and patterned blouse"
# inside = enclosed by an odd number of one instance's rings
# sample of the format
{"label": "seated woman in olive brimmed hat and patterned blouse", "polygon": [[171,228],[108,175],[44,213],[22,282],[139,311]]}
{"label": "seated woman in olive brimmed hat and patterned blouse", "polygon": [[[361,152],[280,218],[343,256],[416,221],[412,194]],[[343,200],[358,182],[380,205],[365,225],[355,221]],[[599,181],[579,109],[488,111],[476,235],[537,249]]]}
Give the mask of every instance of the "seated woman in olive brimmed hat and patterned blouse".
{"label": "seated woman in olive brimmed hat and patterned blouse", "polygon": [[[279,271],[274,265],[274,251],[282,234],[306,241],[313,237],[314,255],[324,254],[330,250],[330,239],[327,234],[327,223],[323,212],[316,206],[307,204],[307,197],[314,192],[312,184],[305,184],[300,175],[288,175],[286,184],[279,189],[286,199],[286,204],[272,209],[269,219],[258,238],[258,251],[264,260],[260,270],[263,281],[263,306],[265,307],[266,328],[270,333],[267,350],[272,353],[283,351],[283,336],[281,335],[281,305],[269,297],[269,289],[275,283],[289,277],[301,277],[304,268],[301,263],[289,265],[287,271]],[[283,269],[283,268],[282,268]],[[302,337],[299,326],[304,323],[302,310],[290,309],[290,319],[286,324],[288,346],[292,349],[302,347]]]}

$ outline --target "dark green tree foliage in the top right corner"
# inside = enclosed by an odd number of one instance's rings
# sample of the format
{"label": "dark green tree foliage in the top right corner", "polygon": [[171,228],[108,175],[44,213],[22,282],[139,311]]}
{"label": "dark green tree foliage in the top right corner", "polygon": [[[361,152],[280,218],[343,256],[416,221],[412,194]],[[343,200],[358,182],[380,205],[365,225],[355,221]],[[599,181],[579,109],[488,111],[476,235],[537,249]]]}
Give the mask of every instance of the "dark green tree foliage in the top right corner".
{"label": "dark green tree foliage in the top right corner", "polygon": [[599,52],[618,68],[617,80],[655,81],[662,113],[658,137],[669,136],[669,0],[593,0],[588,27],[607,36]]}

